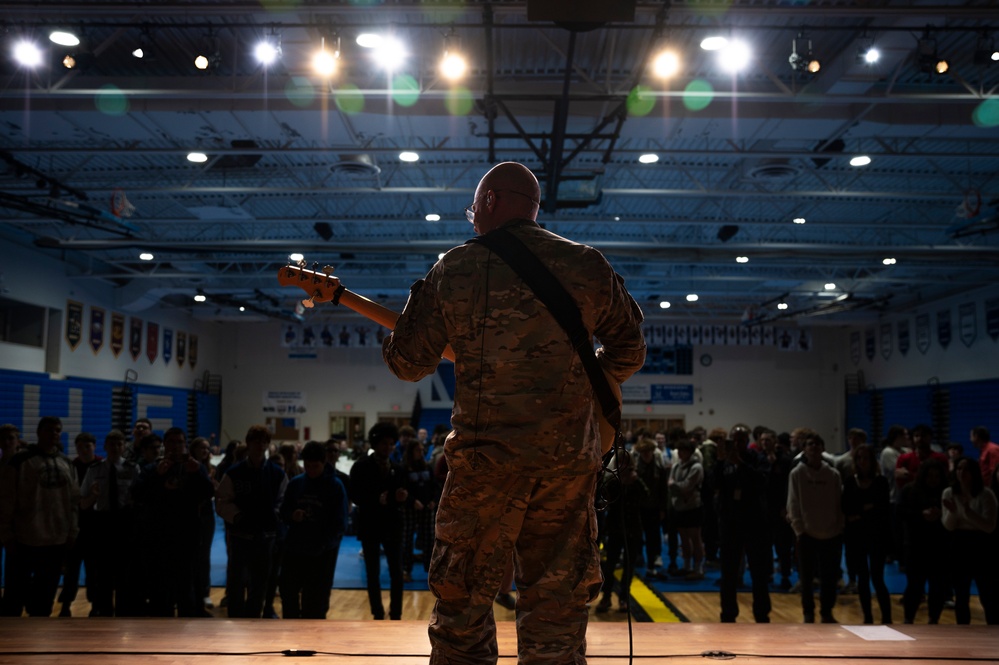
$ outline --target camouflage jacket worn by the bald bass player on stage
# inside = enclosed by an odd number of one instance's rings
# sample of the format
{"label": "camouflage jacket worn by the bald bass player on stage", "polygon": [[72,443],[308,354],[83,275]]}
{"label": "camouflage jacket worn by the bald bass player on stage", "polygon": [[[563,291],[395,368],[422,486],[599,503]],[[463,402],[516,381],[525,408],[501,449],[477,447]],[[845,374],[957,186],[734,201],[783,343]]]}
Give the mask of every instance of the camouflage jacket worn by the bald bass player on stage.
{"label": "camouflage jacket worn by the bald bass player on stage", "polygon": [[[602,344],[600,365],[622,382],[645,360],[642,312],[624,280],[592,247],[531,220],[505,225],[558,276]],[[599,468],[593,392],[568,336],[526,284],[482,245],[456,247],[416,282],[383,355],[401,379],[434,372],[455,353],[451,468],[511,468],[534,476]]]}

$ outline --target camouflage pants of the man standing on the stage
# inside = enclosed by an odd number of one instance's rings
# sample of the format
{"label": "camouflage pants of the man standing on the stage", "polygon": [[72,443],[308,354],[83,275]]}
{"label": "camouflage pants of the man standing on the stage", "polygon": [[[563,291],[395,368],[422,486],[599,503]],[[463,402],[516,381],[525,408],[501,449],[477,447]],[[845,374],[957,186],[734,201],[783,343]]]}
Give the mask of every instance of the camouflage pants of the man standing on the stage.
{"label": "camouflage pants of the man standing on the stage", "polygon": [[518,662],[586,663],[600,589],[595,474],[525,478],[452,469],[437,512],[431,665],[496,663],[493,601],[516,563]]}

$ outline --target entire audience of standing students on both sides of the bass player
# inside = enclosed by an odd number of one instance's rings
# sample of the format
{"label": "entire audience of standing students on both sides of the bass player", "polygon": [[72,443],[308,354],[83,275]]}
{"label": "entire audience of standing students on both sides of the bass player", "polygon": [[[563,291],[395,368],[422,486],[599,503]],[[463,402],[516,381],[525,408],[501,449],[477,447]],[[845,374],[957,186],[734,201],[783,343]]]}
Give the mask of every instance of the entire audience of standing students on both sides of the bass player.
{"label": "entire audience of standing students on both sides of the bass player", "polygon": [[[189,442],[179,428],[160,437],[146,419],[131,437],[109,432],[103,458],[95,437],[82,433],[70,459],[61,432],[58,418],[43,417],[37,442],[25,445],[17,428],[0,426],[5,616],[50,616],[60,577],[59,614],[69,616],[81,565],[91,616],[212,616],[216,514],[226,529],[231,617],[277,618],[280,595],[284,618],[325,618],[347,532],[361,544],[374,619],[401,618],[404,582],[414,565],[430,564],[446,428],[428,438],[378,423],[348,449],[335,440],[275,447],[265,427],[253,426],[217,466],[208,440]],[[773,588],[800,592],[805,622],[835,622],[837,594],[853,592],[866,623],[874,602],[891,623],[884,571],[894,562],[907,580],[906,623],[924,600],[931,623],[948,601],[957,622],[968,623],[972,582],[986,621],[997,623],[999,446],[984,427],[970,439],[977,456],[957,443],[937,450],[926,425],[912,428],[911,439],[893,426],[877,448],[853,429],[848,450],[834,456],[807,428],[629,435],[598,497],[605,581],[595,611],[611,610],[615,593],[618,609],[628,609],[643,564],[650,578],[694,581],[717,566],[722,622],[739,614],[748,569],[757,622],[769,622]],[[344,453],[356,458],[349,475],[337,469]],[[504,585],[497,602],[512,607],[511,594]]]}

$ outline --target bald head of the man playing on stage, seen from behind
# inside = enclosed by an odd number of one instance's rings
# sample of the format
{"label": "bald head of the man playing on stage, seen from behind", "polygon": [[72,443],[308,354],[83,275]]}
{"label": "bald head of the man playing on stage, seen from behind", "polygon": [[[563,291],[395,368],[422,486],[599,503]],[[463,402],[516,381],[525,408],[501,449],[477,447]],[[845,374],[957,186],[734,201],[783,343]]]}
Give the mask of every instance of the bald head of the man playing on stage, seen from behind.
{"label": "bald head of the man playing on stage, seen from behind", "polygon": [[540,200],[538,179],[529,168],[517,162],[497,164],[475,188],[475,231],[488,233],[516,218],[536,219]]}

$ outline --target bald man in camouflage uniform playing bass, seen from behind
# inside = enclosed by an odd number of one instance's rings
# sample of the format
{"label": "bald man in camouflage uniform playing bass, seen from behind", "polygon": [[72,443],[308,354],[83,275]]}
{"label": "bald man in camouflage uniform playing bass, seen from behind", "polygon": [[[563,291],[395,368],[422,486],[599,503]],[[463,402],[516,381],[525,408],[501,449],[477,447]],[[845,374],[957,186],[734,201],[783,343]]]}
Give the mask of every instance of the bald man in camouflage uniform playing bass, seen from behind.
{"label": "bald man in camouflage uniform playing bass, seen from behind", "polygon": [[[535,223],[538,181],[494,167],[469,209],[478,234],[504,227],[573,295],[621,382],[644,362],[642,313],[603,256]],[[493,600],[516,564],[521,664],[585,663],[587,603],[600,589],[593,511],[600,469],[594,398],[569,339],[530,288],[483,245],[456,247],[413,285],[385,362],[401,379],[455,353],[453,431],[430,588],[432,665],[495,663]]]}

